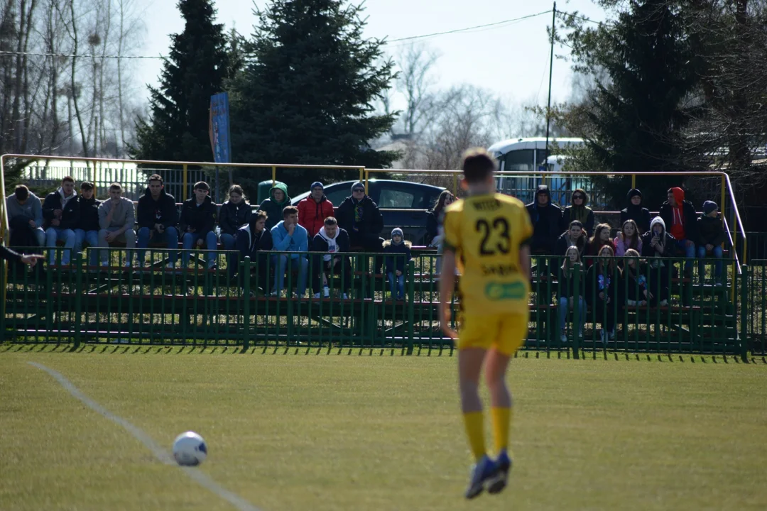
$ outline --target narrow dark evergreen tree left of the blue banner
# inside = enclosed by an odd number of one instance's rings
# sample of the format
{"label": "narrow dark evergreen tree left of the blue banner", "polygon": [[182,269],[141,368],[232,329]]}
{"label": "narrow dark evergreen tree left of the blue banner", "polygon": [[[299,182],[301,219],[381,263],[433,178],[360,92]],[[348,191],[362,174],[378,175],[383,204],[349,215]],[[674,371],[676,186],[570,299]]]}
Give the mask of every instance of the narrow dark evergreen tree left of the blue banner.
{"label": "narrow dark evergreen tree left of the blue banner", "polygon": [[150,89],[150,120],[137,126],[136,159],[210,162],[210,97],[229,77],[229,41],[214,23],[212,0],[179,0],[185,25],[173,34],[160,87]]}

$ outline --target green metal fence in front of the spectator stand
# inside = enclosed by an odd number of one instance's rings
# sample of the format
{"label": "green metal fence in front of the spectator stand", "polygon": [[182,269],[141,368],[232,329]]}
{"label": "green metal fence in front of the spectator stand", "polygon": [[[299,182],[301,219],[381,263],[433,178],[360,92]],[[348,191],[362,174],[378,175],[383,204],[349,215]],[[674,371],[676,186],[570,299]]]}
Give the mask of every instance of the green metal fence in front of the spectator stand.
{"label": "green metal fence in front of the spectator stand", "polygon": [[[141,264],[132,251],[127,267],[125,249],[108,249],[107,267],[89,266],[91,249],[74,254],[64,267],[58,264],[64,249],[56,250],[57,264],[9,269],[2,282],[2,340],[453,352],[453,342],[439,329],[439,256],[434,252],[416,253],[406,265],[404,300],[396,300],[386,254],[341,257],[334,273],[325,274],[326,297],[319,279],[327,254],[306,257],[307,293],[289,291],[301,286],[301,265],[294,263],[285,272],[285,290],[273,296],[282,255],[277,252],[236,260],[235,253],[219,251],[212,254],[216,268],[209,270],[209,253],[199,250],[189,251],[185,268],[179,267],[180,250],[147,251]],[[169,267],[171,260],[177,262]],[[571,306],[576,300],[559,293],[561,257],[532,262],[526,349],[578,358],[606,350],[742,357],[765,351],[765,261],[742,271],[725,264],[718,283],[716,261],[699,267],[698,261],[663,259],[663,270],[652,267],[661,260],[640,262],[639,274],[644,272],[654,299],[629,303],[629,293],[644,292],[642,279],[621,274],[628,261],[615,259],[617,264],[602,275],[616,290],[604,306],[598,274],[582,267],[573,270],[572,280],[583,307]],[[686,263],[691,264],[685,268]],[[457,317],[455,296],[452,306]]]}

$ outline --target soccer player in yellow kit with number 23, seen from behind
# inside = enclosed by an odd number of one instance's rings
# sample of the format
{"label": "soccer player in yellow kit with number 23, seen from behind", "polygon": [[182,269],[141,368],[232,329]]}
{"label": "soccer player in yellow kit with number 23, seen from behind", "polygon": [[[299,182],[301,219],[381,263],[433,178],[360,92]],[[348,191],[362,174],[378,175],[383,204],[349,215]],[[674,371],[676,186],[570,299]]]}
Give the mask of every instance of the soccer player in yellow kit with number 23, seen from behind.
{"label": "soccer player in yellow kit with number 23, seen from behind", "polygon": [[[495,160],[484,149],[463,158],[461,186],[468,197],[446,208],[443,221],[443,268],[439,281],[440,317],[446,335],[457,339],[459,389],[463,420],[476,464],[466,498],[487,488],[499,493],[511,470],[509,425],[512,396],[505,375],[509,359],[528,331],[532,223],[525,205],[495,193]],[[450,301],[459,281],[460,333],[450,327]],[[479,375],[485,365],[490,415],[497,457],[485,449]]]}

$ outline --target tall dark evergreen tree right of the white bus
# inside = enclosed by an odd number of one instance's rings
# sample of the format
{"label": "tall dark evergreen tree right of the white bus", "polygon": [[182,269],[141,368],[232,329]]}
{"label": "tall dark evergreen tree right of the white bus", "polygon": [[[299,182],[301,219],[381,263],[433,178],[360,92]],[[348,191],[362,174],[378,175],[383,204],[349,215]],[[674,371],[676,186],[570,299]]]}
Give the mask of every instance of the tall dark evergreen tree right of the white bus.
{"label": "tall dark evergreen tree right of the white bus", "polygon": [[[575,70],[598,70],[607,76],[596,80],[585,105],[571,110],[578,119],[571,119],[570,126],[580,125],[587,132],[574,129],[588,139],[591,158],[584,160],[616,172],[689,170],[680,157],[682,130],[690,119],[683,99],[695,87],[696,77],[680,7],[669,0],[600,3],[622,9],[614,23],[584,28],[577,18],[568,20],[575,28],[567,38]],[[615,206],[623,207],[627,181],[601,183]],[[656,176],[652,185],[645,179],[637,182],[640,187],[646,184],[643,192],[653,195],[648,201],[653,208],[680,179]]]}

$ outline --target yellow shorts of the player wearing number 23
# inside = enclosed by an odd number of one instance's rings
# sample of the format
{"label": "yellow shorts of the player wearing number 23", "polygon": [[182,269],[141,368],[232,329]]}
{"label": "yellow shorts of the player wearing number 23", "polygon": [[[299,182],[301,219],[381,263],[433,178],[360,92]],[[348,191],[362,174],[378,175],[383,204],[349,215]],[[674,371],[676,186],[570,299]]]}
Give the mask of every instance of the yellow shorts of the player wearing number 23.
{"label": "yellow shorts of the player wearing number 23", "polygon": [[468,316],[460,318],[458,349],[495,348],[505,355],[513,355],[525,344],[530,312],[503,316]]}

